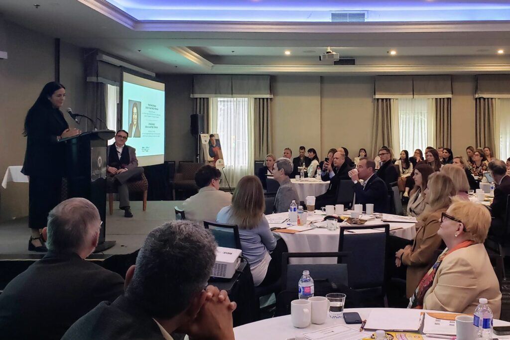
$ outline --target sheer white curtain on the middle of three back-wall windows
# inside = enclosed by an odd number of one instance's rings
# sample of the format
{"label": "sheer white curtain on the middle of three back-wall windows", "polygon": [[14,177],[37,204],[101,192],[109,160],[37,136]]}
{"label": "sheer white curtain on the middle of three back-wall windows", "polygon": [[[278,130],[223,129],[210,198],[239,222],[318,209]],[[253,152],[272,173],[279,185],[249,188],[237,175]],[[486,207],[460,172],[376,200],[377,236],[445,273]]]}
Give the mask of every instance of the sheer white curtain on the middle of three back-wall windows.
{"label": "sheer white curtain on the middle of three back-wall windows", "polygon": [[398,131],[399,149],[409,151],[410,156],[414,150],[422,151],[428,145],[434,146],[436,113],[434,99],[398,99]]}

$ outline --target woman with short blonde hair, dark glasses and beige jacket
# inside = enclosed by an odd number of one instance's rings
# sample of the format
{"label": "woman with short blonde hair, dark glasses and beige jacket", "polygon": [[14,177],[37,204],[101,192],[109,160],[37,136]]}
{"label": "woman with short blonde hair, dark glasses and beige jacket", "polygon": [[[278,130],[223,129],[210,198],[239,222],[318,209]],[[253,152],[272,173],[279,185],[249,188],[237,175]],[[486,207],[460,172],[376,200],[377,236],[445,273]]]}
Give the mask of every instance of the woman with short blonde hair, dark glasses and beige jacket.
{"label": "woman with short blonde hair, dark glasses and beige jacket", "polygon": [[491,225],[487,207],[454,201],[439,218],[446,249],[421,279],[409,307],[472,314],[479,298],[489,301],[498,319],[501,292],[483,242]]}

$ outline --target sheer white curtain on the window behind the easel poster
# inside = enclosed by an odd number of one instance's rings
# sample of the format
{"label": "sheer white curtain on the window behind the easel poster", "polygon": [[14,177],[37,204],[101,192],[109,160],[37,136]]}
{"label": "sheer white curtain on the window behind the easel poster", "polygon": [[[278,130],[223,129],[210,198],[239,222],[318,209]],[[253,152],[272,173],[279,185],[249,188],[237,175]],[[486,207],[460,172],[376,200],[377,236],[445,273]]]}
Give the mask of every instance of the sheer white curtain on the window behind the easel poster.
{"label": "sheer white curtain on the window behind the easel poster", "polygon": [[225,175],[235,187],[243,176],[253,174],[253,100],[211,99],[211,133],[219,135]]}

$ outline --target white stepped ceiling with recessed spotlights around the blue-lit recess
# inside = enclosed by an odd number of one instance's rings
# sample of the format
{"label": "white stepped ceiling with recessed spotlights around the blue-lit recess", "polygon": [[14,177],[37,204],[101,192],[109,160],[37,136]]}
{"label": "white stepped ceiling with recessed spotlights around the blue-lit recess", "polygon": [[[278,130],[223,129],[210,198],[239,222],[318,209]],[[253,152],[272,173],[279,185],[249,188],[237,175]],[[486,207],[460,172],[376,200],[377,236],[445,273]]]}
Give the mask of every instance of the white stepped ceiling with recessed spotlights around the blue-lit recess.
{"label": "white stepped ceiling with recessed spotlights around the blue-lit recess", "polygon": [[[190,5],[196,1],[186,3]],[[510,71],[508,21],[360,24],[147,22],[107,6],[102,0],[35,2],[41,5],[38,9],[26,1],[2,0],[0,13],[8,21],[78,46],[99,48],[156,73],[304,72],[352,75]],[[232,3],[251,2],[237,0]],[[266,5],[280,3],[276,0],[260,2]],[[400,0],[392,3],[420,2],[424,1]],[[507,1],[436,2],[443,5],[508,5]],[[157,4],[158,1],[153,0],[152,3]],[[225,2],[211,0],[209,3]],[[308,2],[293,1],[293,4],[305,3]],[[318,2],[327,3],[339,2]],[[327,46],[332,46],[342,57],[355,58],[356,66],[340,67],[319,62],[319,55]],[[497,55],[499,48],[505,49],[508,54]],[[397,50],[397,56],[388,55],[391,49]],[[284,56],[285,50],[290,50],[291,56]]]}

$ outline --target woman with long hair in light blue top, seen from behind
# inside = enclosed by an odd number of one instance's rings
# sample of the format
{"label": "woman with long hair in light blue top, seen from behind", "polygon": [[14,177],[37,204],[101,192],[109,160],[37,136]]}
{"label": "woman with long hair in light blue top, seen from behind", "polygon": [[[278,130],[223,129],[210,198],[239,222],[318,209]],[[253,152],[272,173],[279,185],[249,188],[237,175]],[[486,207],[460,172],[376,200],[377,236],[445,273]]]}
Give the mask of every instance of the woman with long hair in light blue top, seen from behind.
{"label": "woman with long hair in light blue top, seen from behind", "polygon": [[244,176],[234,191],[232,205],[222,208],[216,216],[216,222],[237,224],[239,227],[241,250],[248,260],[256,286],[276,281],[278,268],[282,265],[281,260],[278,262],[278,258],[269,254],[276,248],[276,239],[264,216],[264,205],[260,179]]}

